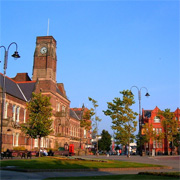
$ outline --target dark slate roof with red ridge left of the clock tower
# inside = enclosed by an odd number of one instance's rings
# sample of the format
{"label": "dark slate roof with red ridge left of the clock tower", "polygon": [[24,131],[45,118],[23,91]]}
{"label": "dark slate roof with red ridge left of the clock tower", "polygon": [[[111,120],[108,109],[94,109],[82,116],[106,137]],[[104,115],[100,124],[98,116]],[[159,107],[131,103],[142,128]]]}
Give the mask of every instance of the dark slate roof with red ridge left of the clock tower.
{"label": "dark slate roof with red ridge left of the clock tower", "polygon": [[[5,92],[23,101],[29,101],[35,88],[35,81],[16,82],[5,77]],[[3,74],[0,73],[0,87],[3,87]]]}

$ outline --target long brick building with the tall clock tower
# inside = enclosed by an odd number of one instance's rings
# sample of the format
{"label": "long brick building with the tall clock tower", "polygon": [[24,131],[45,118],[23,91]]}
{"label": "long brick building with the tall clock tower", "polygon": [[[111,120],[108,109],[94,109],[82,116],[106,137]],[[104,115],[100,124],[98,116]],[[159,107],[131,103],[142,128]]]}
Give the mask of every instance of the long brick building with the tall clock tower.
{"label": "long brick building with the tall clock tower", "polygon": [[[3,150],[19,146],[28,150],[37,148],[37,139],[26,136],[20,128],[21,123],[27,122],[26,103],[31,100],[32,92],[50,96],[53,108],[54,131],[48,137],[42,138],[41,147],[57,149],[67,143],[77,150],[80,143],[83,148],[85,142],[90,143],[90,132],[87,133],[80,127],[81,117],[70,108],[70,100],[66,96],[63,83],[56,82],[56,63],[56,40],[52,36],[37,37],[32,80],[27,73],[17,73],[14,78],[5,78]],[[3,74],[0,73],[1,103],[2,83]],[[86,136],[81,132],[85,132]],[[85,140],[80,142],[81,139]]]}

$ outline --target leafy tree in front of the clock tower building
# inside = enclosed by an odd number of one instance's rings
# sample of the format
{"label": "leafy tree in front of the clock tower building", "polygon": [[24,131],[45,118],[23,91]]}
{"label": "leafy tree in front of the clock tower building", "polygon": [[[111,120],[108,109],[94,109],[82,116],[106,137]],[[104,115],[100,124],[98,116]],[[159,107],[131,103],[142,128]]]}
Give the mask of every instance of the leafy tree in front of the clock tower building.
{"label": "leafy tree in front of the clock tower building", "polygon": [[40,156],[41,138],[48,136],[52,132],[50,97],[43,96],[41,93],[32,93],[32,99],[27,103],[27,109],[29,111],[29,119],[27,123],[22,125],[22,130],[32,138],[38,138]]}

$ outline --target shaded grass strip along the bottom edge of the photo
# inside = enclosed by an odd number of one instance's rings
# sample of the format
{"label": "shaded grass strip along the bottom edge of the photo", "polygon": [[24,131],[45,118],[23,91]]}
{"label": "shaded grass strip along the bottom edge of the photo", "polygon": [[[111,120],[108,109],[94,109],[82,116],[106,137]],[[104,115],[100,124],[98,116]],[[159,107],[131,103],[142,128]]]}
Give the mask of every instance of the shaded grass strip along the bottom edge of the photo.
{"label": "shaded grass strip along the bottom edge of the photo", "polygon": [[153,179],[179,179],[178,177],[168,177],[168,176],[155,176],[155,175],[139,175],[139,174],[128,174],[128,175],[108,175],[108,176],[93,176],[93,177],[57,177],[57,178],[47,178],[45,180],[55,180],[55,179],[125,179],[125,180],[153,180]]}

